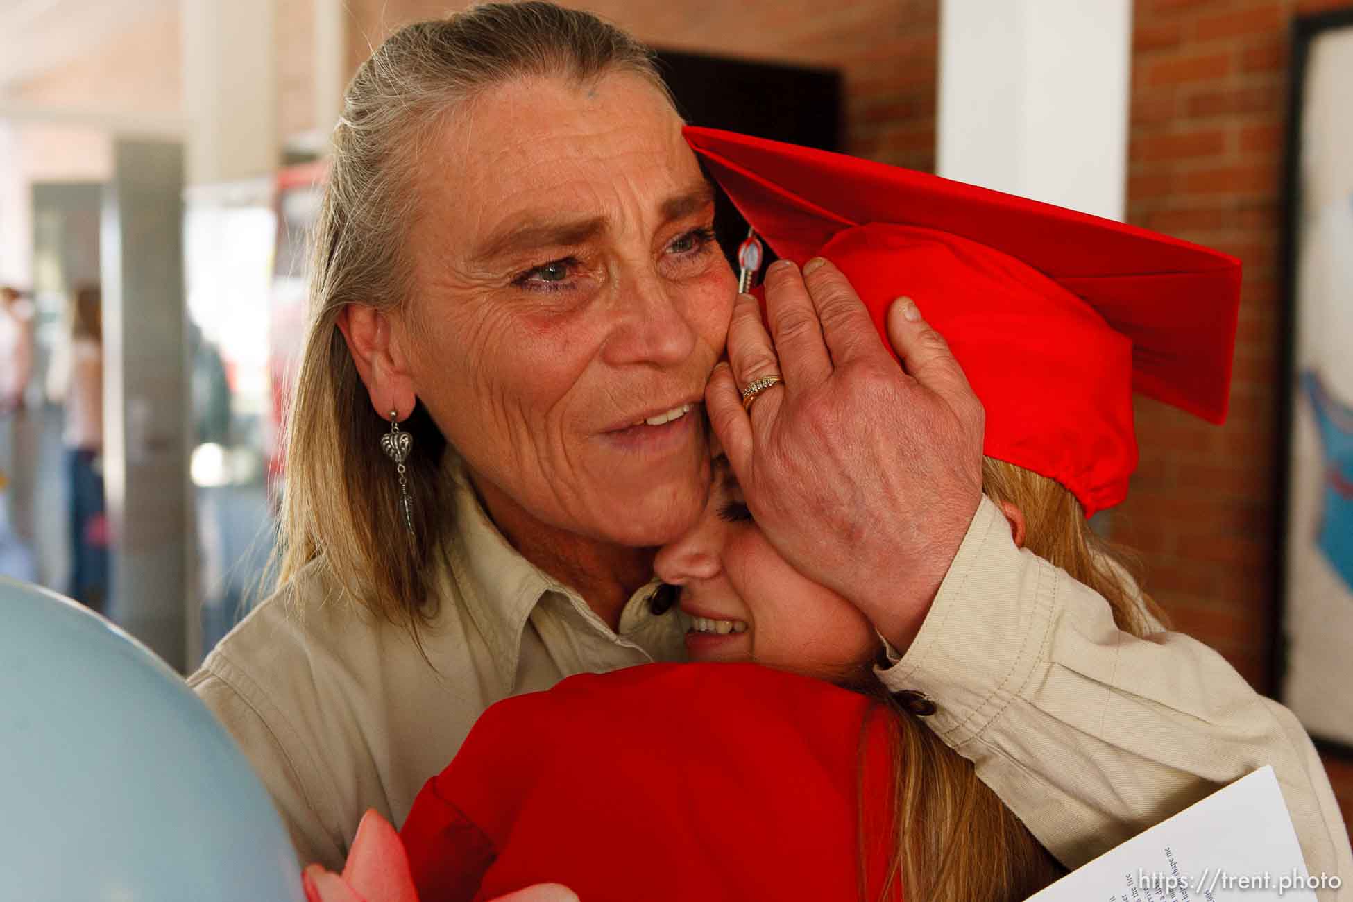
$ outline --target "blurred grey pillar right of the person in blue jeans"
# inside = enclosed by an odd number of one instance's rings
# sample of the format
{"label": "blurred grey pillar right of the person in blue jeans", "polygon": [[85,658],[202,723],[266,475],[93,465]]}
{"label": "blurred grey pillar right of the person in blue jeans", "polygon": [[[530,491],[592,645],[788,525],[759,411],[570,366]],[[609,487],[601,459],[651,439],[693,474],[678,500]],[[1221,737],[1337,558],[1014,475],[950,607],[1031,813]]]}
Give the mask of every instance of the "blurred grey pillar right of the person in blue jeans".
{"label": "blurred grey pillar right of the person in blue jeans", "polygon": [[183,669],[193,531],[179,143],[116,142],[100,245],[111,614]]}

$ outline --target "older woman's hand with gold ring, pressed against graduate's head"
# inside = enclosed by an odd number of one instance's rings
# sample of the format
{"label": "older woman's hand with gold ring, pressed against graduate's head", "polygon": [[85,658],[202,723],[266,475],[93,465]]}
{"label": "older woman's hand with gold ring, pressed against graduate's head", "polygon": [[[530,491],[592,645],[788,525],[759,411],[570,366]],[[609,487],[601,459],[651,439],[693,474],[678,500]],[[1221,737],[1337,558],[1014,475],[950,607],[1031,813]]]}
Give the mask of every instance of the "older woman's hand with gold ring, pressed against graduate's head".
{"label": "older woman's hand with gold ring, pressed against graduate's head", "polygon": [[[709,419],[767,540],[905,650],[981,500],[982,404],[912,302],[888,315],[898,365],[842,272],[804,270],[766,275],[774,341],[739,298]],[[773,375],[744,410],[741,389]]]}

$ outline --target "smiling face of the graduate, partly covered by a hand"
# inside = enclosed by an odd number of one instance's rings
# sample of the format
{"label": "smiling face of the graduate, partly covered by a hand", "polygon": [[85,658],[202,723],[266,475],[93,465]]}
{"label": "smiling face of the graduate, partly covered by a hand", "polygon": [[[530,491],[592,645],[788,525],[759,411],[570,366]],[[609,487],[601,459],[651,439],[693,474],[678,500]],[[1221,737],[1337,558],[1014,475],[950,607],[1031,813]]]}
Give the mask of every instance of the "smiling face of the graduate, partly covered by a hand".
{"label": "smiling face of the graduate, partly covered by a hand", "polygon": [[756,661],[842,682],[879,648],[859,609],[766,541],[724,458],[700,521],[658,553],[655,569],[681,587],[681,609],[695,618],[686,634],[694,661]]}

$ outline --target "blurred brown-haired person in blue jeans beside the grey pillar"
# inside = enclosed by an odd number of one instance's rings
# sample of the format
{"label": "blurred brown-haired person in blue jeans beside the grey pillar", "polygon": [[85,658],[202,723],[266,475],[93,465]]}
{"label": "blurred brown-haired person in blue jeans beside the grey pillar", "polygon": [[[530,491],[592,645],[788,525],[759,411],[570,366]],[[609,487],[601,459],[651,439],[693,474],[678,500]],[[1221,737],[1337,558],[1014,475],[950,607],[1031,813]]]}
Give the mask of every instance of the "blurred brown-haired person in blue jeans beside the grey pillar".
{"label": "blurred brown-haired person in blue jeans beside the grey pillar", "polygon": [[70,579],[66,594],[103,613],[108,596],[108,519],[103,496],[103,293],[76,291],[69,329],[47,372],[47,395],[65,406],[65,448],[70,513]]}

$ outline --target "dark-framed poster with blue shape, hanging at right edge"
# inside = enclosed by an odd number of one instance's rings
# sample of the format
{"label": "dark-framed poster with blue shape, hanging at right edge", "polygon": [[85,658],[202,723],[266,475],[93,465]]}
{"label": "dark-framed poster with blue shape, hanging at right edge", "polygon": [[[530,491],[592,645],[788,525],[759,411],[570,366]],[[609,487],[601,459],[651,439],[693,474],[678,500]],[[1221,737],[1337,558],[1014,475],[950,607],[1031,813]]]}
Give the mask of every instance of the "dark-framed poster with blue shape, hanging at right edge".
{"label": "dark-framed poster with blue shape, hanging at right edge", "polygon": [[1283,701],[1353,753],[1353,7],[1293,32]]}

